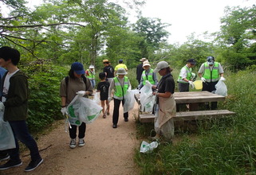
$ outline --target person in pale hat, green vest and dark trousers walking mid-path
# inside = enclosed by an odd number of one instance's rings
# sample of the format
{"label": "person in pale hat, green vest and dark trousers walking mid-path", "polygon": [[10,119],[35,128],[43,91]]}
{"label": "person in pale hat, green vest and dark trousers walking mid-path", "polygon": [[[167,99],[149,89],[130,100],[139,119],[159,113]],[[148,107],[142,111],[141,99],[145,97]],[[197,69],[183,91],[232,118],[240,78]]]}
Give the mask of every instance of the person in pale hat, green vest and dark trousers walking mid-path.
{"label": "person in pale hat, green vest and dark trousers walking mid-path", "polygon": [[[108,103],[112,100],[112,89],[114,89],[113,99],[114,99],[114,111],[112,115],[112,127],[117,127],[117,122],[119,119],[119,108],[122,102],[124,106],[124,95],[131,89],[131,84],[127,76],[127,72],[124,68],[119,68],[116,72],[116,77],[112,80],[110,87],[108,89]],[[128,122],[128,112],[124,113],[124,122]]]}

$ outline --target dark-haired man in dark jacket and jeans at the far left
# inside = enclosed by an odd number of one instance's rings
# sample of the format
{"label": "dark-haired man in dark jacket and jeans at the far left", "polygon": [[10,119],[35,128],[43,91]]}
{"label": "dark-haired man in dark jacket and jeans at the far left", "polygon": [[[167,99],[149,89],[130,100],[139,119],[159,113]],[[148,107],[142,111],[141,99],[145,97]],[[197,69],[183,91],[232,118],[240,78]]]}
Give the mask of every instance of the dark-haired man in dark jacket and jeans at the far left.
{"label": "dark-haired man in dark jacket and jeans at the far left", "polygon": [[0,65],[8,70],[2,77],[2,98],[0,111],[3,111],[3,119],[10,123],[14,132],[16,148],[7,150],[10,160],[0,165],[0,170],[10,169],[22,165],[19,154],[18,140],[30,150],[31,161],[25,171],[32,171],[43,162],[39,154],[37,142],[30,135],[26,125],[28,114],[28,76],[18,69],[20,52],[17,49],[3,46],[0,48]]}

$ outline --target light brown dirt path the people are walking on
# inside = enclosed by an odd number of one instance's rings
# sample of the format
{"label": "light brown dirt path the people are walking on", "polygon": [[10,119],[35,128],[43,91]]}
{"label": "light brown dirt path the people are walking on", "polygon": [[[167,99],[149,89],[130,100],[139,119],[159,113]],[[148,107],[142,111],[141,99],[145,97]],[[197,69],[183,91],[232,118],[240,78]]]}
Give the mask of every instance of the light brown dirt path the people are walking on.
{"label": "light brown dirt path the people are walking on", "polygon": [[69,134],[65,133],[64,122],[56,125],[56,129],[38,140],[39,150],[44,162],[30,173],[24,169],[30,161],[27,151],[22,153],[23,165],[13,169],[0,171],[0,174],[39,174],[39,175],[73,175],[73,174],[138,174],[133,162],[134,149],[140,146],[136,140],[134,115],[137,114],[137,104],[129,112],[129,121],[124,122],[122,107],[118,127],[112,128],[111,113],[107,119],[102,115],[95,122],[87,125],[85,146],[69,148]]}

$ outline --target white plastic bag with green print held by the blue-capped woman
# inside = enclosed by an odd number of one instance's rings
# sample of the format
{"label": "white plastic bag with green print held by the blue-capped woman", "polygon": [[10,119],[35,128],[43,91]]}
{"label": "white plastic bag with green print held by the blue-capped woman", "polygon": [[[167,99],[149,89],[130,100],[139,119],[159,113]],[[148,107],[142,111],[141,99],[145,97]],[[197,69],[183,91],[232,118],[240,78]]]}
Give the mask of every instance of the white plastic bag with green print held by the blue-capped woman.
{"label": "white plastic bag with green print held by the blue-capped woman", "polygon": [[69,103],[68,115],[71,125],[80,126],[81,122],[86,124],[92,123],[102,111],[102,107],[92,99],[80,97],[76,95],[75,98]]}

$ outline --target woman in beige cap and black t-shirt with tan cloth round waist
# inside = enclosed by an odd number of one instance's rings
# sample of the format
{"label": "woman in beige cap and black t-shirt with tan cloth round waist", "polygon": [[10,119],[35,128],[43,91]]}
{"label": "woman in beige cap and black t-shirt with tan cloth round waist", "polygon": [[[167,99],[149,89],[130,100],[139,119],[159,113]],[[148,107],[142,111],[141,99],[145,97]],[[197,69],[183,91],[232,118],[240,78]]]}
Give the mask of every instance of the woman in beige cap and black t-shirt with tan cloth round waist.
{"label": "woman in beige cap and black t-shirt with tan cloth round waist", "polygon": [[172,69],[166,61],[160,61],[154,72],[159,72],[162,76],[160,83],[152,88],[157,89],[152,94],[156,95],[159,110],[156,111],[154,122],[156,136],[155,139],[163,135],[164,138],[171,139],[174,136],[173,117],[176,115],[176,105],[174,99],[175,82],[171,75]]}

